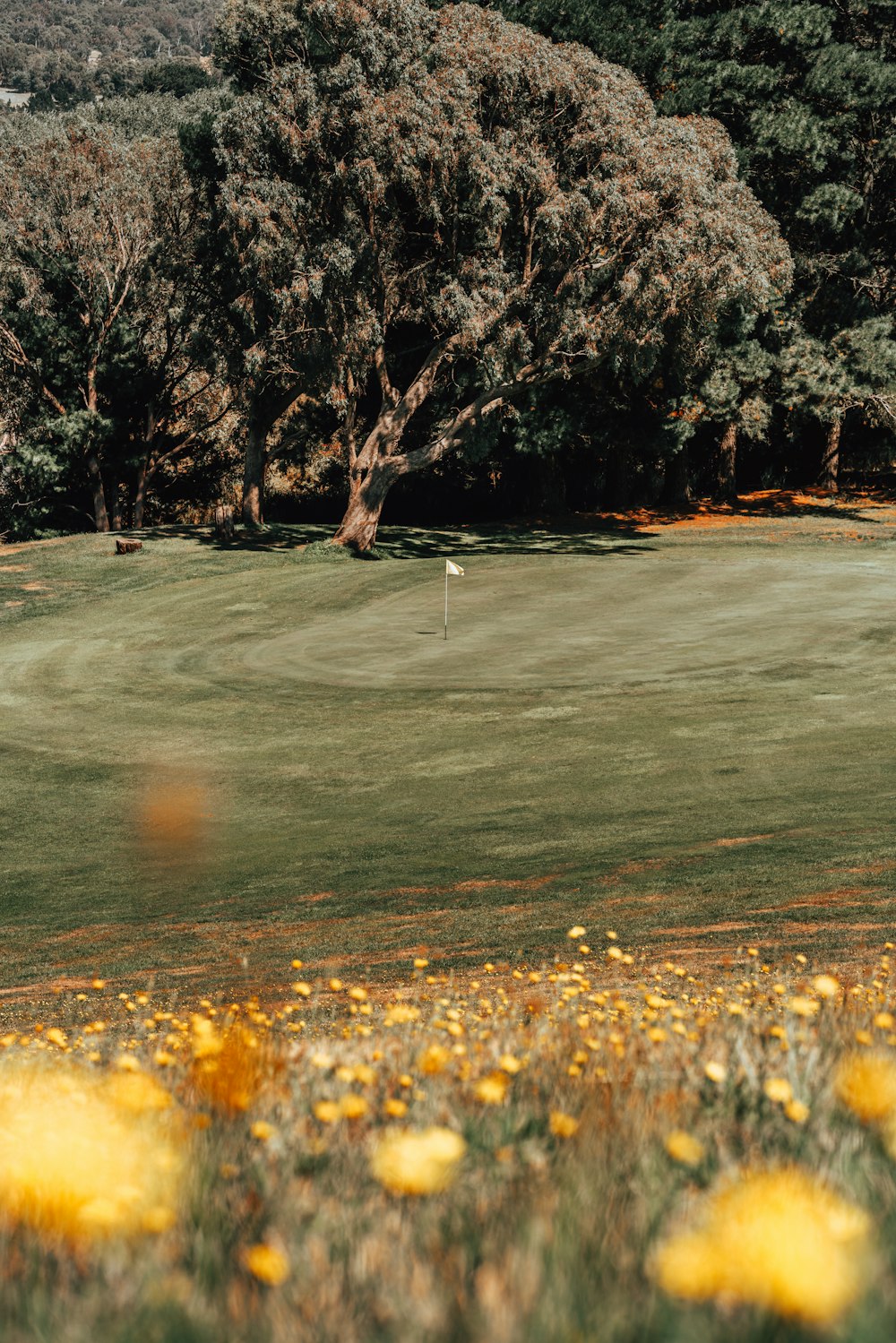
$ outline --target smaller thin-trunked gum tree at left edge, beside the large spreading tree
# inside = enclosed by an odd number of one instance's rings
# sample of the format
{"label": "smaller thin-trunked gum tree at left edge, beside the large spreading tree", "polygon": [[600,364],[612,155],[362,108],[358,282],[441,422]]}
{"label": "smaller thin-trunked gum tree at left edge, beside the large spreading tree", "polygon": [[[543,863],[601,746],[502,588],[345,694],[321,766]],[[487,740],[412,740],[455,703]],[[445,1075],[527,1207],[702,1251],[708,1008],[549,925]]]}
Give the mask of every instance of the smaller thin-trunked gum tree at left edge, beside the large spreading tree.
{"label": "smaller thin-trunked gum tree at left edge, beside the large spreading tree", "polygon": [[66,508],[89,485],[98,530],[125,496],[140,525],[153,475],[227,410],[197,338],[176,128],[148,103],[1,126],[3,426],[23,479]]}

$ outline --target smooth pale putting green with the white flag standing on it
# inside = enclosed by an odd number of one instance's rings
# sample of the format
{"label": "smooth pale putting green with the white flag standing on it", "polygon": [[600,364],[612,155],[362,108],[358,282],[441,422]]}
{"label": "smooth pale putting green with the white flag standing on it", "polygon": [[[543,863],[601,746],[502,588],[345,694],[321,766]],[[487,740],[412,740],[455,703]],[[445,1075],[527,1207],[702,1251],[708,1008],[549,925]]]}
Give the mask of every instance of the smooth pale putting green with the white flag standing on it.
{"label": "smooth pale putting green with the white flag standing on it", "polygon": [[896,551],[717,559],[646,549],[606,561],[473,559],[462,580],[449,579],[447,642],[443,565],[418,561],[400,591],[300,618],[244,661],[262,676],[345,688],[660,688],[764,673],[833,677],[865,708],[869,694],[896,689]]}

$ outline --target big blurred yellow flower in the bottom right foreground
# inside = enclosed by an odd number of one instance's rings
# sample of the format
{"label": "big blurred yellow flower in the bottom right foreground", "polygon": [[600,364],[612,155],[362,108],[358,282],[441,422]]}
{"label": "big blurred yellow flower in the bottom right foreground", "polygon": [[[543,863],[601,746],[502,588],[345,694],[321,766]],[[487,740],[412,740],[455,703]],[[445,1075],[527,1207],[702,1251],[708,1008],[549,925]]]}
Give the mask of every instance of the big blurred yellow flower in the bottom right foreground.
{"label": "big blurred yellow flower in the bottom right foreground", "polygon": [[862,1289],[868,1230],[858,1207],[801,1170],[748,1172],[707,1201],[696,1230],[665,1241],[652,1268],[673,1296],[833,1324]]}

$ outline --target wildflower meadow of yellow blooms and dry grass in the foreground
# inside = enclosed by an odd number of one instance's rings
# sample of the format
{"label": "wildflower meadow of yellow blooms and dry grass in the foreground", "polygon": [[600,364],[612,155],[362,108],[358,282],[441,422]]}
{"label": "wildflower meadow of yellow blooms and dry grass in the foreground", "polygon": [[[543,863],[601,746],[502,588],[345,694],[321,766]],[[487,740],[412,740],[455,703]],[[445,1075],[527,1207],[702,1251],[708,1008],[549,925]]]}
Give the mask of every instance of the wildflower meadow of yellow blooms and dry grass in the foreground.
{"label": "wildflower meadow of yellow blooms and dry grass in the foreground", "polygon": [[892,944],[7,1009],[4,1339],[891,1339]]}

